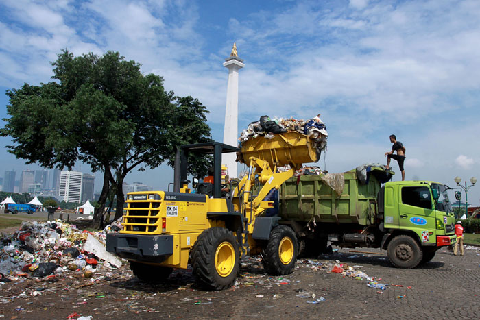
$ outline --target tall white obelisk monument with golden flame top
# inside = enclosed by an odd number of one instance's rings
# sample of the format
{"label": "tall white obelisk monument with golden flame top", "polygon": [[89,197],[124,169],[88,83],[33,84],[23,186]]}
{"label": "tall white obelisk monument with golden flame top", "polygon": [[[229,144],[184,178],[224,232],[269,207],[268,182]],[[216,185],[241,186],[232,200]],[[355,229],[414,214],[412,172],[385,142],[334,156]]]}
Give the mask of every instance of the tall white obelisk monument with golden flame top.
{"label": "tall white obelisk monument with golden flame top", "polygon": [[[228,68],[227,104],[225,108],[224,143],[237,146],[238,144],[238,119],[239,119],[239,70],[245,66],[237,53],[237,45],[233,44],[230,57],[225,59],[224,66]],[[223,164],[228,167],[230,178],[237,177],[237,162],[235,153],[224,153]]]}

